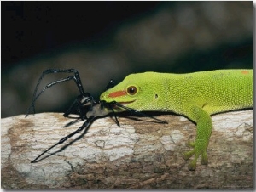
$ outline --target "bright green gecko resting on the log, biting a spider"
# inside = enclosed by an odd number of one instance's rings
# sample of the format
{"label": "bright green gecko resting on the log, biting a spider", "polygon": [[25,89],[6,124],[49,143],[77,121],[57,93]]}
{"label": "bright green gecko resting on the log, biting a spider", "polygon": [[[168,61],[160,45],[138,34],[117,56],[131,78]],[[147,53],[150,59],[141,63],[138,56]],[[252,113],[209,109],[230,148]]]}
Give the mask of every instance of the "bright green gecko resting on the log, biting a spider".
{"label": "bright green gecko resting on the log, biting a spider", "polygon": [[[211,115],[228,110],[253,107],[253,70],[217,70],[187,74],[144,72],[126,76],[113,88],[101,94],[100,100],[116,101],[137,111],[172,111],[196,123],[193,150],[183,158],[195,155],[189,170],[207,165],[207,146],[212,133]],[[115,107],[116,112],[123,109]]]}

